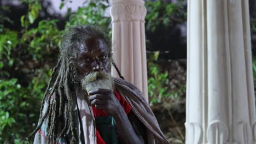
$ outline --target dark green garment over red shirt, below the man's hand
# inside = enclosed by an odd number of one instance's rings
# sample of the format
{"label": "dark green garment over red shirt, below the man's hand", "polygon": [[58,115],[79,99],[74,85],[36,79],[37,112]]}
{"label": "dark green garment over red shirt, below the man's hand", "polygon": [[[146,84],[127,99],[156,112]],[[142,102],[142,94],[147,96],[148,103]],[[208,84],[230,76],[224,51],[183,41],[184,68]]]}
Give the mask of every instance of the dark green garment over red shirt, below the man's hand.
{"label": "dark green garment over red shirt, below the man's hand", "polygon": [[108,117],[95,117],[96,127],[102,139],[106,144],[117,144],[118,135],[115,127],[114,118],[110,115]]}

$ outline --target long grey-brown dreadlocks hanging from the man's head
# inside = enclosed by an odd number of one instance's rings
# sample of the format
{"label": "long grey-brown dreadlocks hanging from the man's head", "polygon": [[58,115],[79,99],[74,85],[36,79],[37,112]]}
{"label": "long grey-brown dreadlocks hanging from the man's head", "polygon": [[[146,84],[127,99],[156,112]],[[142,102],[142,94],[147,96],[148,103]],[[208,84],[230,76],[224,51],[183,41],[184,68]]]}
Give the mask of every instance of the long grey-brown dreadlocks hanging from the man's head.
{"label": "long grey-brown dreadlocks hanging from the man's head", "polygon": [[[40,109],[39,124],[33,133],[32,137],[42,126],[46,120],[46,141],[47,143],[56,143],[60,137],[68,136],[69,143],[78,142],[78,134],[75,130],[75,115],[74,106],[76,96],[74,93],[74,85],[79,86],[79,81],[75,77],[76,70],[72,66],[72,59],[76,57],[78,47],[84,44],[86,39],[102,39],[107,44],[109,49],[109,57],[111,57],[111,44],[106,34],[102,29],[95,26],[76,26],[62,35],[62,45],[60,50],[60,58],[53,69],[53,74],[50,77],[48,87],[44,93],[42,105]],[[112,59],[112,58],[110,58]],[[117,66],[112,61],[115,69]],[[117,69],[119,76],[120,71]],[[48,104],[47,107],[44,105]],[[43,109],[46,112],[43,113]],[[65,121],[63,121],[65,119]]]}

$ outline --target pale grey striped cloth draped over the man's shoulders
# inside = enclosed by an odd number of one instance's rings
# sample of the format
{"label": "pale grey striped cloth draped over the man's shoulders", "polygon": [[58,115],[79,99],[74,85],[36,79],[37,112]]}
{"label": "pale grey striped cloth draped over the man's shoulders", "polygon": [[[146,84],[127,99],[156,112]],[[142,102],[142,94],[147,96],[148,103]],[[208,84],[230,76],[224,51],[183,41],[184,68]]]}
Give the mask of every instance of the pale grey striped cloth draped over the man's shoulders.
{"label": "pale grey striped cloth draped over the man's shoulders", "polygon": [[[138,119],[146,126],[148,143],[168,143],[164,134],[162,133],[158,122],[154,116],[154,113],[150,109],[148,103],[143,97],[141,91],[132,85],[130,82],[115,78],[115,89],[124,97],[127,103],[131,106],[131,111],[138,117]],[[77,104],[80,112],[80,118],[82,120],[82,127],[79,123],[79,116],[77,106],[75,106],[75,117],[77,119],[77,132],[79,136],[79,143],[96,144],[96,124],[92,107],[88,100],[84,99],[82,92],[77,92]],[[47,104],[45,104],[46,106]],[[45,120],[46,121],[46,120]],[[46,122],[44,122],[46,123]],[[44,143],[46,140],[46,125],[43,125],[41,129],[36,133],[34,143]],[[83,129],[83,131],[82,131]],[[83,142],[84,139],[84,142]],[[59,143],[67,143],[65,140],[60,139]]]}

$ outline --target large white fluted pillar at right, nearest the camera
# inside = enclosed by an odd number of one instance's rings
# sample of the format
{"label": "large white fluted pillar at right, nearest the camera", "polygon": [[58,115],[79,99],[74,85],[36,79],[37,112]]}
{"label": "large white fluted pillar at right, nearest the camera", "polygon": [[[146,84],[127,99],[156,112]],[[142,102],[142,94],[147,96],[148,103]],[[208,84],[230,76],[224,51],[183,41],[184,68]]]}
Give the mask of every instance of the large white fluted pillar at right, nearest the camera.
{"label": "large white fluted pillar at right, nearest the camera", "polygon": [[186,143],[254,143],[248,0],[189,0],[187,61]]}

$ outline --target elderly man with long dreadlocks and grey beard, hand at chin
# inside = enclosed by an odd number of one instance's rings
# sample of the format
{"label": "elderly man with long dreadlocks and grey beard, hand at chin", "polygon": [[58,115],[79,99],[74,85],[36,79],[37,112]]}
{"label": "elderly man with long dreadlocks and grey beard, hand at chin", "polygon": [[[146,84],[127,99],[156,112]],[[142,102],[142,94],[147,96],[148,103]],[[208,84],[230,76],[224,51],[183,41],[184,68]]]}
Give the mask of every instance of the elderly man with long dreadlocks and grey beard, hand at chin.
{"label": "elderly man with long dreadlocks and grey beard, hand at chin", "polygon": [[34,143],[168,143],[142,93],[110,75],[111,44],[100,29],[71,28],[60,53]]}

